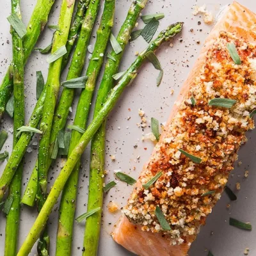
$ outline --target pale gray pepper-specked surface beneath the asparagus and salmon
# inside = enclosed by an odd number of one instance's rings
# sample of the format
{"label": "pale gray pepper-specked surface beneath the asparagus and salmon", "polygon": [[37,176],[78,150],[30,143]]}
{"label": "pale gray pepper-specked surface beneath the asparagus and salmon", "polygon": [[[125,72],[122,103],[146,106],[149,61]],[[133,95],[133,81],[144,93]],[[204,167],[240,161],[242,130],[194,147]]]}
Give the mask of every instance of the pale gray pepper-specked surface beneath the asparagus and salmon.
{"label": "pale gray pepper-specked surface beneath the asparagus and salmon", "polygon": [[[10,1],[3,1],[0,9],[0,78],[2,80],[7,63],[10,63],[12,58],[12,38],[9,33],[9,24],[6,17],[10,15]],[[27,24],[36,0],[21,1],[22,16],[24,23]],[[132,86],[127,88],[118,101],[115,110],[111,113],[108,120],[108,135],[107,135],[107,147],[106,147],[106,170],[108,175],[106,177],[106,183],[115,179],[113,176],[113,170],[121,169],[123,172],[129,173],[132,177],[137,178],[143,163],[147,161],[154,145],[150,141],[141,141],[143,131],[137,127],[137,123],[140,122],[140,116],[138,115],[138,109],[143,109],[146,113],[148,124],[152,116],[156,117],[160,122],[165,122],[172,109],[173,103],[179,93],[179,88],[182,85],[184,79],[188,76],[189,70],[191,70],[193,63],[198,56],[198,52],[203,45],[205,37],[211,30],[211,26],[204,24],[202,17],[193,16],[191,14],[193,4],[207,5],[207,9],[213,13],[217,13],[220,10],[220,6],[230,3],[228,0],[157,0],[149,1],[147,8],[143,13],[156,13],[164,12],[165,18],[161,20],[158,31],[166,28],[168,24],[176,21],[184,21],[184,31],[182,33],[182,42],[180,42],[181,35],[173,40],[173,47],[164,45],[157,52],[157,56],[161,61],[161,65],[164,68],[163,83],[159,88],[156,87],[157,71],[152,67],[150,63],[145,63],[140,75],[136,78]],[[251,8],[256,12],[255,2],[252,0],[241,0],[241,3]],[[58,14],[60,12],[60,0],[56,0],[56,4],[51,13],[49,24],[56,24],[58,20]],[[127,10],[131,4],[131,1],[120,1],[116,3],[116,17],[115,28],[113,29],[114,35],[116,35],[120,28]],[[103,6],[103,4],[102,4]],[[102,8],[101,8],[102,12]],[[198,20],[202,22],[198,25]],[[97,23],[99,26],[99,23]],[[95,29],[97,29],[95,26]],[[143,22],[139,21],[139,28],[143,26]],[[193,28],[193,32],[189,31]],[[200,31],[202,29],[202,31]],[[52,31],[51,29],[45,29],[41,36],[38,46],[45,46],[51,41]],[[95,30],[93,31],[95,35]],[[10,44],[7,44],[7,40]],[[199,40],[200,44],[196,41]],[[92,40],[92,45],[93,45]],[[145,48],[147,43],[138,38],[135,42],[127,46],[124,54],[124,61],[120,70],[125,70],[131,62],[135,59],[134,53],[141,51]],[[110,48],[109,48],[110,49]],[[35,92],[36,92],[36,70],[42,70],[45,80],[47,78],[48,65],[45,61],[46,57],[38,52],[33,52],[31,58],[29,58],[26,65],[26,120],[31,115],[31,111],[35,106]],[[172,62],[171,62],[172,61]],[[61,77],[65,79],[65,74]],[[173,95],[170,94],[171,90],[174,90]],[[76,97],[77,98],[77,97]],[[73,109],[75,109],[73,107]],[[130,109],[130,110],[129,110]],[[74,115],[74,111],[72,113]],[[131,116],[130,120],[127,120],[127,116]],[[70,119],[72,115],[70,115]],[[71,120],[69,120],[71,122]],[[5,116],[1,128],[9,131],[8,143],[6,143],[6,150],[12,151],[12,120]],[[150,128],[146,127],[144,133],[150,132]],[[256,229],[253,228],[252,232],[246,232],[239,230],[228,225],[228,218],[230,216],[242,221],[250,221],[255,227],[256,225],[256,173],[255,173],[255,152],[256,152],[256,134],[255,132],[248,133],[248,143],[241,148],[239,152],[239,161],[242,161],[241,166],[236,163],[236,168],[232,173],[232,177],[228,181],[230,188],[236,190],[236,182],[241,183],[241,190],[236,191],[238,200],[231,203],[230,209],[227,209],[226,205],[230,203],[227,195],[224,193],[220,202],[214,208],[211,216],[207,218],[205,227],[202,228],[200,235],[193,243],[189,252],[190,256],[204,256],[207,255],[207,249],[211,249],[212,253],[216,256],[238,256],[243,255],[244,248],[250,248],[249,255],[256,255]],[[33,138],[36,141],[36,136]],[[134,145],[138,145],[134,148]],[[144,148],[147,148],[145,150]],[[116,161],[111,161],[109,155],[115,155]],[[139,159],[138,159],[138,156]],[[36,150],[26,154],[26,164],[24,168],[24,184],[28,182],[29,173],[35,163]],[[79,195],[77,199],[77,212],[76,216],[79,216],[86,211],[86,201],[88,195],[88,159],[89,150],[87,149],[83,156],[83,168],[81,170],[81,179],[79,180]],[[6,163],[0,164],[0,172]],[[136,170],[134,170],[134,167]],[[244,179],[244,171],[249,170],[248,179]],[[49,173],[49,177],[56,177],[60,172],[60,164],[55,164]],[[83,178],[83,174],[86,175]],[[53,180],[53,179],[52,179]],[[51,184],[52,184],[51,180]],[[25,185],[23,186],[25,188]],[[119,207],[125,205],[127,197],[131,193],[131,186],[126,186],[122,182],[118,182],[116,188],[111,189],[104,200],[104,217],[102,220],[102,232],[100,237],[99,255],[113,256],[113,255],[131,255],[121,246],[118,246],[109,235],[113,224],[120,216],[120,211],[116,214],[110,214],[107,210],[107,205],[110,200],[114,200]],[[36,218],[36,211],[23,206],[21,212],[20,221],[20,236],[19,246],[24,241],[26,234],[29,232],[29,228],[33,224]],[[54,208],[54,211],[50,217],[50,234],[51,234],[51,255],[54,255],[55,241],[56,241],[56,227],[58,222],[58,206]],[[5,218],[1,214],[0,218],[0,254],[3,255],[4,248],[4,225]],[[72,255],[81,255],[83,248],[83,232],[84,224],[75,223],[74,225],[74,242]],[[33,248],[31,255],[36,253],[36,248]]]}

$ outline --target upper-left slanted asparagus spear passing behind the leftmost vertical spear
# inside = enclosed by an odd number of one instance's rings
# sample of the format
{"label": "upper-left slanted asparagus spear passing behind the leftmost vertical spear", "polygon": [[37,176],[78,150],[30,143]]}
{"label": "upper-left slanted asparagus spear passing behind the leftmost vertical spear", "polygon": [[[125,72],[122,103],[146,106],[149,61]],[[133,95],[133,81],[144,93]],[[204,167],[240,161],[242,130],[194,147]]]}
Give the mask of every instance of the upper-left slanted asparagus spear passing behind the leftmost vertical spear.
{"label": "upper-left slanted asparagus spear passing behind the leftmost vertical spear", "polygon": [[[27,33],[22,38],[24,48],[24,64],[28,60],[31,51],[33,50],[40,33],[44,29],[48,20],[48,15],[52,4],[55,0],[38,0],[35,9],[28,23]],[[12,83],[12,68],[8,68],[8,72],[4,76],[0,86],[0,120],[3,116],[6,103],[10,99],[13,90]]]}

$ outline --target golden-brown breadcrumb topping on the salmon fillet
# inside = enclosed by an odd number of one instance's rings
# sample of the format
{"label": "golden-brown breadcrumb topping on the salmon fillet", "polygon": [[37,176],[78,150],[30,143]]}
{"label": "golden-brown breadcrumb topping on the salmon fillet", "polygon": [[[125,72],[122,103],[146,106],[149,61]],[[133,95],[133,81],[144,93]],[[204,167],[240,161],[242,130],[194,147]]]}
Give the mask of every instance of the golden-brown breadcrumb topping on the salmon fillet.
{"label": "golden-brown breadcrumb topping on the salmon fillet", "polygon": [[[236,65],[227,43],[234,43],[241,58]],[[220,199],[237,159],[237,150],[253,129],[250,113],[256,108],[256,47],[225,32],[207,52],[200,76],[180,102],[179,111],[167,124],[156,152],[141,173],[124,213],[142,230],[170,234],[172,243],[186,243],[199,232],[206,216]],[[193,104],[194,97],[196,104]],[[209,100],[236,100],[232,108],[209,106]],[[182,149],[202,159],[194,163]],[[158,172],[163,175],[149,189],[146,184]],[[204,195],[205,193],[207,195]],[[158,205],[172,230],[157,220]]]}

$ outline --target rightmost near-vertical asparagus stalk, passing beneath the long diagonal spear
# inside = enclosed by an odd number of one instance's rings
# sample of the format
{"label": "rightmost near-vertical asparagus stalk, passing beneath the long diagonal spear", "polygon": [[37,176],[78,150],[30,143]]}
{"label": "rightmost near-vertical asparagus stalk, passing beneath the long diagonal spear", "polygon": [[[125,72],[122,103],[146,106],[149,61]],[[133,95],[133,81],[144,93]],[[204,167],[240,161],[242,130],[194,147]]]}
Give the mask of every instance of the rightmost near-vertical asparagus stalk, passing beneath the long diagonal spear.
{"label": "rightmost near-vertical asparagus stalk, passing beneath the long diagonal spear", "polygon": [[[127,17],[122,25],[118,36],[117,42],[122,47],[123,51],[116,54],[115,51],[111,51],[111,56],[115,58],[115,61],[108,59],[102,81],[99,86],[97,99],[95,102],[94,118],[98,115],[100,109],[105,103],[108,93],[113,87],[113,75],[118,72],[118,67],[124,53],[125,46],[129,42],[131,31],[134,28],[136,21],[140,15],[140,12],[147,0],[134,1],[129,8]],[[91,161],[90,161],[90,182],[89,182],[89,195],[87,211],[102,207],[103,200],[103,183],[104,183],[104,156],[105,156],[105,129],[106,120],[102,123],[91,142]],[[70,175],[73,175],[74,171]],[[84,256],[97,255],[99,235],[100,235],[100,221],[102,210],[95,212],[92,216],[86,219],[86,227],[84,232]]]}

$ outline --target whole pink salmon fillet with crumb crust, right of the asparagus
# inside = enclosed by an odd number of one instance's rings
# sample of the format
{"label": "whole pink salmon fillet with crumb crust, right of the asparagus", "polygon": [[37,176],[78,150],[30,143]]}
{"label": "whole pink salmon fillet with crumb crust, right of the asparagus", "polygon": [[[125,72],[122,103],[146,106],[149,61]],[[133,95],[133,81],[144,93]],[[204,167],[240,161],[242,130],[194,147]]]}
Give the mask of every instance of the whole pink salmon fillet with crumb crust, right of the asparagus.
{"label": "whole pink salmon fillet with crumb crust, right of the asparagus", "polygon": [[[255,28],[256,15],[234,2],[205,40],[112,232],[127,250],[141,256],[187,255],[220,199],[245,133],[254,128]],[[228,44],[234,45],[240,65],[232,60]],[[209,104],[216,98],[231,100],[232,106]],[[159,179],[144,188],[159,172]],[[170,230],[157,218],[157,207]]]}

